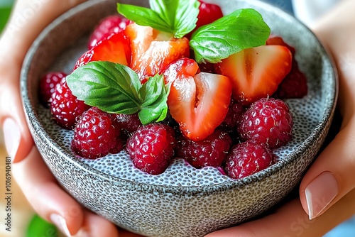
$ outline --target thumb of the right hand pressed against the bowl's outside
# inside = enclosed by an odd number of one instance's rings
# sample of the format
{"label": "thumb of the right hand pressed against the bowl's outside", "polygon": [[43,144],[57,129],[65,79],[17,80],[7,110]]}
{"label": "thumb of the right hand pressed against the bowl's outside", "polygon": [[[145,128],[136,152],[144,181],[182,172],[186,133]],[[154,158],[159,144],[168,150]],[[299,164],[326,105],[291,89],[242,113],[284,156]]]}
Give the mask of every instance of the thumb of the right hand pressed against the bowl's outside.
{"label": "thumb of the right hand pressed against the bowl's outside", "polygon": [[323,150],[300,184],[300,199],[315,219],[354,189],[355,123],[350,121]]}

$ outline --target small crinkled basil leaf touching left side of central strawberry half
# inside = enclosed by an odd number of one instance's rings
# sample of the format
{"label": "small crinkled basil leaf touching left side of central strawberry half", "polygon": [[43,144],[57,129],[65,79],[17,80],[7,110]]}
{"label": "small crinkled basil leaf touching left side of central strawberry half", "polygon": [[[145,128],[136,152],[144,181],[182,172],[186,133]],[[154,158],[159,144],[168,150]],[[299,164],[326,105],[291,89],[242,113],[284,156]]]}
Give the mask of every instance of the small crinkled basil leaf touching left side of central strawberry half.
{"label": "small crinkled basil leaf touching left side of central strawberry half", "polygon": [[165,85],[163,75],[148,79],[140,90],[143,104],[138,116],[143,124],[163,121],[168,114],[170,84]]}

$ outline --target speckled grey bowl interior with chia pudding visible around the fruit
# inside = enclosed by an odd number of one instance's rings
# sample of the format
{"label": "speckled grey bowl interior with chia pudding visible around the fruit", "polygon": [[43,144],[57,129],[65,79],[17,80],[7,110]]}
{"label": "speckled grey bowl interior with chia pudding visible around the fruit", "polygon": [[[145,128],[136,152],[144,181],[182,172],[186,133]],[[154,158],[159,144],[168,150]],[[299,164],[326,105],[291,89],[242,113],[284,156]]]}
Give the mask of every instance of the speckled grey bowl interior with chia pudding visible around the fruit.
{"label": "speckled grey bowl interior with chia pudding visible around the fruit", "polygon": [[[148,1],[121,1],[148,5]],[[288,99],[294,115],[293,140],[275,150],[278,162],[262,172],[241,180],[231,180],[217,168],[195,169],[182,158],[175,158],[161,175],[148,175],[133,167],[123,151],[99,160],[85,160],[70,149],[73,132],[67,131],[50,118],[50,111],[38,103],[38,81],[48,71],[72,72],[77,59],[87,49],[87,39],[94,26],[104,16],[116,13],[115,1],[89,1],[58,18],[35,41],[26,57],[21,87],[28,120],[35,133],[55,146],[63,158],[75,162],[83,169],[109,180],[129,180],[141,184],[164,187],[205,187],[219,184],[244,186],[263,180],[283,169],[283,166],[302,159],[305,150],[322,137],[332,118],[337,98],[337,77],[331,60],[315,35],[292,16],[259,1],[209,1],[222,6],[224,14],[236,9],[253,8],[259,11],[275,35],[296,49],[295,58],[305,72],[309,92],[302,99]],[[317,140],[319,143],[319,140]],[[307,164],[312,160],[307,160]],[[305,165],[307,166],[307,165]],[[304,172],[305,167],[301,170]]]}

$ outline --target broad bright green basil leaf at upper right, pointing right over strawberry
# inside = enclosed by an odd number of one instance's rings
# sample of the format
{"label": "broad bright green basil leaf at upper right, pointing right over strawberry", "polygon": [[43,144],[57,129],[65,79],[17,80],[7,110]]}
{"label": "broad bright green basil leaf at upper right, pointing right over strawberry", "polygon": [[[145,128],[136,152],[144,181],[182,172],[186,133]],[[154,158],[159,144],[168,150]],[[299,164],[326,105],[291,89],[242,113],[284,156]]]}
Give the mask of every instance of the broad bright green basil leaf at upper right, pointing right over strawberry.
{"label": "broad bright green basil leaf at upper right, pointing right over strawberry", "polygon": [[270,28],[258,11],[239,9],[197,29],[190,47],[198,63],[217,63],[246,48],[265,45],[269,35]]}

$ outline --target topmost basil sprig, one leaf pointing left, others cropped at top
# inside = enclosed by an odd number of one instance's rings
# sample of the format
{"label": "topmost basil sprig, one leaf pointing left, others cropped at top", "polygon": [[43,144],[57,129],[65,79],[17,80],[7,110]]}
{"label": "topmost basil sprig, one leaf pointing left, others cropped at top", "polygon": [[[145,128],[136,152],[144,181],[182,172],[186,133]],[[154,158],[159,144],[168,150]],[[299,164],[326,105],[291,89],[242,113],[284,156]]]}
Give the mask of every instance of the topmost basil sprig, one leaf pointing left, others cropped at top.
{"label": "topmost basil sprig, one leaf pointing left, others cropped at top", "polygon": [[117,4],[117,11],[140,26],[173,33],[182,38],[195,27],[200,2],[197,0],[150,0],[151,9],[129,4]]}

